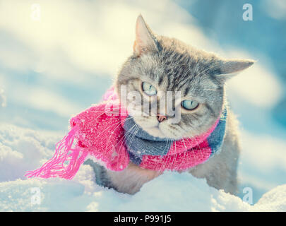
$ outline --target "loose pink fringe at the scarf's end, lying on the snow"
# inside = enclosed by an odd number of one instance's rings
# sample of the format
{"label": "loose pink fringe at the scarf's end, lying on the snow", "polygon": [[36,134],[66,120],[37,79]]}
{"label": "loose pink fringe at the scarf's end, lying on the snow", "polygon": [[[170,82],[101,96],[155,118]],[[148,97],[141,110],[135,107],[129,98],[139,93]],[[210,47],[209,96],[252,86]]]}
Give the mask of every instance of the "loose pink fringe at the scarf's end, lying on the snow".
{"label": "loose pink fringe at the scarf's end, lying on the snow", "polygon": [[[73,179],[78,172],[79,167],[84,162],[88,151],[73,143],[78,133],[78,126],[74,126],[64,138],[56,143],[56,151],[54,156],[44,163],[39,169],[28,171],[25,177],[61,177],[64,179]],[[68,165],[65,163],[68,162]]]}

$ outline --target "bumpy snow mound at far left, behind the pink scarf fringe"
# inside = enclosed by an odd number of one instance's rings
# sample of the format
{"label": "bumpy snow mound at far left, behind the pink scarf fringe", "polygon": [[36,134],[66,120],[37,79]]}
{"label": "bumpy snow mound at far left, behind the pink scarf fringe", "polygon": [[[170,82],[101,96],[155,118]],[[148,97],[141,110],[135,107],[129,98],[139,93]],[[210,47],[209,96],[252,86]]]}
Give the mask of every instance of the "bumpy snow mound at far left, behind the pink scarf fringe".
{"label": "bumpy snow mound at far left, behind the pink scarf fringe", "polygon": [[39,167],[52,156],[57,139],[30,129],[1,125],[0,182],[25,179],[25,171]]}

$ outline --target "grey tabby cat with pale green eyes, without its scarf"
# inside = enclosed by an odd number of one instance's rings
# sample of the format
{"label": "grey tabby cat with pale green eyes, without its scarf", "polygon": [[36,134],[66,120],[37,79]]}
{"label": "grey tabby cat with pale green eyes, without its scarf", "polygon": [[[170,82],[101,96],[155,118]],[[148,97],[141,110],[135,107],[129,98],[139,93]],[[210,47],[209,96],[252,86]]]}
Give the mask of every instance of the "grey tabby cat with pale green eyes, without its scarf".
{"label": "grey tabby cat with pale green eyes, without its scarf", "polygon": [[[254,64],[250,59],[222,59],[216,54],[191,47],[175,38],[155,35],[140,15],[136,21],[136,40],[133,54],[117,75],[115,88],[127,93],[136,91],[151,104],[156,92],[180,91],[180,120],[169,123],[171,117],[158,109],[155,115],[131,114],[133,121],[151,136],[160,138],[186,138],[207,131],[227,109],[225,136],[216,153],[207,162],[187,169],[194,177],[205,178],[210,186],[237,193],[237,162],[239,136],[237,119],[227,106],[225,82],[238,72]],[[146,96],[149,94],[149,97]],[[157,102],[157,100],[155,100]],[[160,102],[160,100],[159,100]],[[127,100],[125,107],[131,105]],[[87,160],[95,170],[97,184],[119,192],[136,194],[143,184],[162,172],[143,169],[133,162],[119,172]]]}

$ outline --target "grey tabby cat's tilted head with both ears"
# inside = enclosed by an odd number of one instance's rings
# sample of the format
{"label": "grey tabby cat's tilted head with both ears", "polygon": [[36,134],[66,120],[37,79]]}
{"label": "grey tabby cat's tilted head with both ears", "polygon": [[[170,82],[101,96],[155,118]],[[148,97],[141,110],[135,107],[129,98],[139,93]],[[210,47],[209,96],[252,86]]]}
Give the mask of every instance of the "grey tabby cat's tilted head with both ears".
{"label": "grey tabby cat's tilted head with both ears", "polygon": [[249,59],[222,59],[175,38],[155,35],[140,15],[133,55],[121,67],[116,89],[121,105],[151,136],[193,137],[220,117],[225,81],[252,64]]}

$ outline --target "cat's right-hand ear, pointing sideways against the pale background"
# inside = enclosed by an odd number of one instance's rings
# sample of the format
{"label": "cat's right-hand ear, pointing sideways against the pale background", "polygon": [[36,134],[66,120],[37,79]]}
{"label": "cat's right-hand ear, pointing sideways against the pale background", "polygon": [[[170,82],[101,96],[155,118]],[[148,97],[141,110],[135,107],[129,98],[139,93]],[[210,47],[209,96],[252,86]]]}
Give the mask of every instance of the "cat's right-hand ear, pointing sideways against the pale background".
{"label": "cat's right-hand ear, pointing sideways against the pale background", "polygon": [[237,73],[248,69],[256,61],[252,59],[220,59],[218,61],[219,75],[217,75],[223,82],[227,79],[237,75]]}

